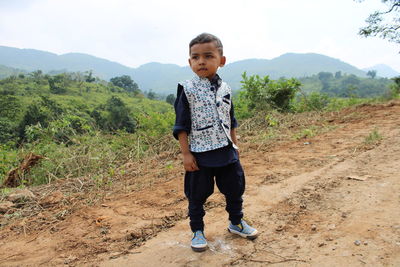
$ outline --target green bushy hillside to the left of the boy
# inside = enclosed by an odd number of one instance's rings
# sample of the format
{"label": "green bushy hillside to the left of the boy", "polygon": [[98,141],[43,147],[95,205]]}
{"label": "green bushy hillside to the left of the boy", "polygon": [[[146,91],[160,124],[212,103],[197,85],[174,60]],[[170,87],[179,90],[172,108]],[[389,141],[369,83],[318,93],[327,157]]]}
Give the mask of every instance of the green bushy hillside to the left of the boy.
{"label": "green bushy hillside to the left of the boy", "polygon": [[[170,131],[172,110],[145,97],[128,76],[106,82],[91,72],[35,71],[0,80],[0,180],[24,151],[51,159],[30,173],[33,184],[99,173],[121,157],[140,158]],[[133,144],[135,154],[123,154]]]}

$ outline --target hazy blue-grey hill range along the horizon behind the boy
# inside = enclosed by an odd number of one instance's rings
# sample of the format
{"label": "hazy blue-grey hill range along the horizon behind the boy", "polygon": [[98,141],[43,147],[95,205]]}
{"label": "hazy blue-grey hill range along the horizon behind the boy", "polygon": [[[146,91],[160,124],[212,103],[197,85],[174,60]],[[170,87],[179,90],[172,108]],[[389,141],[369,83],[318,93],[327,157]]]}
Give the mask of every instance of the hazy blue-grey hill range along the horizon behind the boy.
{"label": "hazy blue-grey hill range along the horizon behind the boy", "polygon": [[[175,64],[148,63],[138,68],[130,68],[106,59],[88,54],[68,53],[57,55],[34,49],[19,49],[0,46],[0,64],[26,70],[50,71],[88,71],[109,80],[120,75],[130,75],[142,90],[156,93],[173,93],[178,81],[188,79],[193,74],[188,66]],[[243,72],[249,75],[269,75],[272,79],[280,77],[305,77],[321,71],[355,74],[365,77],[365,72],[343,61],[320,54],[288,53],[274,59],[247,59],[227,64],[220,74],[233,89],[240,88]],[[1,71],[0,71],[1,73]],[[380,73],[378,72],[378,75]]]}

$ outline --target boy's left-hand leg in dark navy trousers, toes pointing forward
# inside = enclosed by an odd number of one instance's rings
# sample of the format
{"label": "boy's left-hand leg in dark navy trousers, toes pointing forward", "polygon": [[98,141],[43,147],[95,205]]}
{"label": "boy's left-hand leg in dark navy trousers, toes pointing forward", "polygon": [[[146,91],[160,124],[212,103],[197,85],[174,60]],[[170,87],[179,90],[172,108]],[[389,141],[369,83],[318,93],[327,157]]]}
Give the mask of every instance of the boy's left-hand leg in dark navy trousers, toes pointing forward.
{"label": "boy's left-hand leg in dark navy trousers, toes pointing forward", "polygon": [[214,192],[213,168],[199,166],[199,169],[185,174],[185,195],[189,201],[189,218],[192,232],[204,231],[204,203]]}

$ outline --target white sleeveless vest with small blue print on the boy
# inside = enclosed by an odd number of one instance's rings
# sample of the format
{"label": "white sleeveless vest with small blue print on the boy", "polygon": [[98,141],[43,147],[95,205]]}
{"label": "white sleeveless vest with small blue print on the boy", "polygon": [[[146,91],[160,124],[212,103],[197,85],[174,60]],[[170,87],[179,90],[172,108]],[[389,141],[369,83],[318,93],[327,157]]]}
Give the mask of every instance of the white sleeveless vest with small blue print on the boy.
{"label": "white sleeveless vest with small blue print on the boy", "polygon": [[[192,152],[205,152],[227,146],[231,139],[232,90],[225,83],[211,88],[207,78],[198,76],[181,83],[189,102],[192,120],[189,147]],[[214,88],[214,87],[213,87]]]}

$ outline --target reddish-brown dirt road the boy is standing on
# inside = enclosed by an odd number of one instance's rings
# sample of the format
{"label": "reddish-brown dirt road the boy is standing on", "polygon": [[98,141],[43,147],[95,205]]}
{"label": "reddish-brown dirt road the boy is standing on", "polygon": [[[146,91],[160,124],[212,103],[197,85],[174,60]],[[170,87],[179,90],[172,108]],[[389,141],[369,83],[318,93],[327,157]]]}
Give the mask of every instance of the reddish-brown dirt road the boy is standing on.
{"label": "reddish-brown dirt road the boy is standing on", "polygon": [[53,223],[55,208],[2,227],[0,265],[400,266],[400,102],[348,109],[325,123],[330,130],[312,138],[245,144],[254,241],[226,231],[216,193],[205,217],[210,248],[191,251],[175,159],[151,187],[109,192]]}

